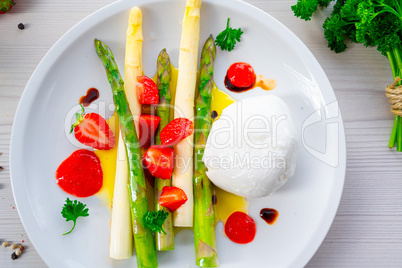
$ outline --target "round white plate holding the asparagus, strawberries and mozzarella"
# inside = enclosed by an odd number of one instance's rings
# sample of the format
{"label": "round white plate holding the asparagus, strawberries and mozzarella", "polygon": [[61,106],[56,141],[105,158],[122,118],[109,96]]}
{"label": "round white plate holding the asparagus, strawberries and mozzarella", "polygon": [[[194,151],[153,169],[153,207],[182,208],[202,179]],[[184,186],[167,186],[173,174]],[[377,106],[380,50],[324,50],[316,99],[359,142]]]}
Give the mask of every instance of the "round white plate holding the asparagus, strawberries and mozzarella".
{"label": "round white plate holding the asparagus, strawberries and mozzarella", "polygon": [[[155,73],[157,54],[164,47],[177,66],[185,1],[118,1],[84,19],[52,47],[29,80],[18,107],[10,149],[15,201],[32,243],[51,267],[135,267],[134,257],[124,262],[108,258],[110,215],[96,197],[82,200],[90,216],[80,218],[72,234],[61,235],[70,226],[60,214],[67,194],[56,185],[54,175],[77,149],[65,134],[65,121],[68,125],[79,97],[96,87],[100,100],[94,107],[102,112],[100,104],[112,103],[93,40],[99,38],[112,48],[122,71],[127,18],[133,5],[143,11],[145,74]],[[235,61],[248,62],[257,73],[275,78],[278,86],[271,92],[254,89],[234,96],[282,97],[291,108],[301,142],[295,176],[271,197],[251,201],[255,240],[234,244],[222,234],[222,224],[218,225],[221,267],[302,267],[324,239],[341,197],[346,163],[342,118],[314,56],[292,32],[261,10],[241,1],[205,0],[201,43],[210,33],[216,36],[228,17],[233,27],[243,28],[244,36],[231,53],[219,50],[218,87],[224,88],[225,72]],[[259,217],[265,207],[279,211],[275,225]],[[192,234],[183,231],[173,252],[158,254],[159,265],[195,267],[194,255]]]}

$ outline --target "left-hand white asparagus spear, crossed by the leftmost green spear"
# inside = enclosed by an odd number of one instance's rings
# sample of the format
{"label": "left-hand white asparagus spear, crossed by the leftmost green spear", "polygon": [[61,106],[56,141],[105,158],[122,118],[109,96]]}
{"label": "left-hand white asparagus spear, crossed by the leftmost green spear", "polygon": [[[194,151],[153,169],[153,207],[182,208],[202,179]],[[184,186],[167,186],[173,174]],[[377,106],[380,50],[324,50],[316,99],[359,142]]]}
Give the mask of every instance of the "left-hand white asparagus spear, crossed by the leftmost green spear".
{"label": "left-hand white asparagus spear, crossed by the leftmost green spear", "polygon": [[[138,102],[136,82],[142,75],[142,13],[138,7],[130,11],[127,28],[126,56],[124,64],[124,92],[139,133],[138,117],[141,104]],[[119,135],[116,162],[116,178],[113,194],[112,222],[110,233],[110,257],[128,259],[133,253],[130,201],[128,195],[128,168],[124,142]]]}

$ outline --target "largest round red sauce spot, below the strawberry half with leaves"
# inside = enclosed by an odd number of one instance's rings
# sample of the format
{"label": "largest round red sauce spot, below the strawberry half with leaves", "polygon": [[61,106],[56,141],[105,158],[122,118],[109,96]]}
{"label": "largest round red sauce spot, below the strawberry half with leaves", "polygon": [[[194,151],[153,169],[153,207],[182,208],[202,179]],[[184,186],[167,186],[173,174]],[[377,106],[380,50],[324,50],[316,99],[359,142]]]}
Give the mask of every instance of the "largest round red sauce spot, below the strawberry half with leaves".
{"label": "largest round red sauce spot, below the strawberry half with leaves", "polygon": [[99,158],[89,150],[75,151],[57,168],[56,182],[66,193],[76,197],[96,194],[103,184]]}

